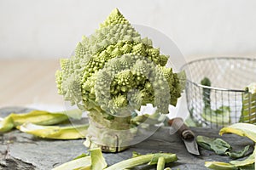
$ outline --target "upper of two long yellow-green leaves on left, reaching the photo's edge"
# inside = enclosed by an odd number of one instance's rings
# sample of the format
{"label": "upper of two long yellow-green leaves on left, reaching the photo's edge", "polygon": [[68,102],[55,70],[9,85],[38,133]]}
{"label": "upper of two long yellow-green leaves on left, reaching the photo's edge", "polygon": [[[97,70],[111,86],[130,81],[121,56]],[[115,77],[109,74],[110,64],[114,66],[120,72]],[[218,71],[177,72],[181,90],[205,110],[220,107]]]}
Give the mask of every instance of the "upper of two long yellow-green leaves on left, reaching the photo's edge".
{"label": "upper of two long yellow-green leaves on left, reaching the photo's edge", "polygon": [[26,122],[31,122],[37,125],[54,125],[67,121],[69,118],[79,119],[82,111],[30,111],[28,113],[11,113],[3,118],[0,122],[0,133],[10,131],[13,127],[20,126]]}

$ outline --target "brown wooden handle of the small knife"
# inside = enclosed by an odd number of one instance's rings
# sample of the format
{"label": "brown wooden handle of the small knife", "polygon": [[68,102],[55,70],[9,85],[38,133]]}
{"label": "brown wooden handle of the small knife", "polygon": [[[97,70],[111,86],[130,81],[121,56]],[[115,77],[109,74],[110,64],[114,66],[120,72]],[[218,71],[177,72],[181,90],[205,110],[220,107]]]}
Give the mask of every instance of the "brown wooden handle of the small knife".
{"label": "brown wooden handle of the small knife", "polygon": [[177,130],[177,133],[182,136],[183,139],[194,139],[195,134],[187,127],[181,117],[176,117],[168,121],[169,126]]}

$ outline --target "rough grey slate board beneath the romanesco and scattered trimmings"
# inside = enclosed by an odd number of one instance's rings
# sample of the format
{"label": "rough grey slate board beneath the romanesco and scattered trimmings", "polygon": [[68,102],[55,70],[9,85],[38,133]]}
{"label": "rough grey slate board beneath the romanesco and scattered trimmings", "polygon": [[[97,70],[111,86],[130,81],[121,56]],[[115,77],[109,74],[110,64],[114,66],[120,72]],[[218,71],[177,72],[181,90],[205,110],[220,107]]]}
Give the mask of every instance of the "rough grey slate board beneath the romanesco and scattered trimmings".
{"label": "rough grey slate board beneath the romanesco and scattered trimmings", "polygon": [[[27,108],[9,107],[0,109],[0,116],[7,116],[11,112],[27,112]],[[183,145],[183,141],[174,133],[169,135],[170,127],[160,127],[153,136],[144,140],[140,144],[131,146],[128,150],[113,154],[104,153],[108,165],[122,161],[131,157],[132,151],[137,151],[141,154],[155,152],[172,152],[176,153],[178,161],[169,164],[172,169],[207,169],[204,167],[205,161],[230,161],[227,156],[217,156],[212,151],[203,150],[200,148],[201,156],[190,155]],[[209,128],[192,128],[197,135],[205,135],[208,137],[218,136],[217,129]],[[239,150],[243,146],[250,144],[253,150],[253,142],[247,138],[236,136],[234,134],[225,134],[220,137],[228,141],[234,150]],[[52,140],[39,139],[30,134],[20,133],[14,130],[10,133],[0,134],[0,169],[3,170],[23,170],[23,169],[52,169],[64,162],[72,160],[86,152],[83,145],[84,139],[77,140]],[[154,166],[143,166],[136,169],[155,169]]]}

